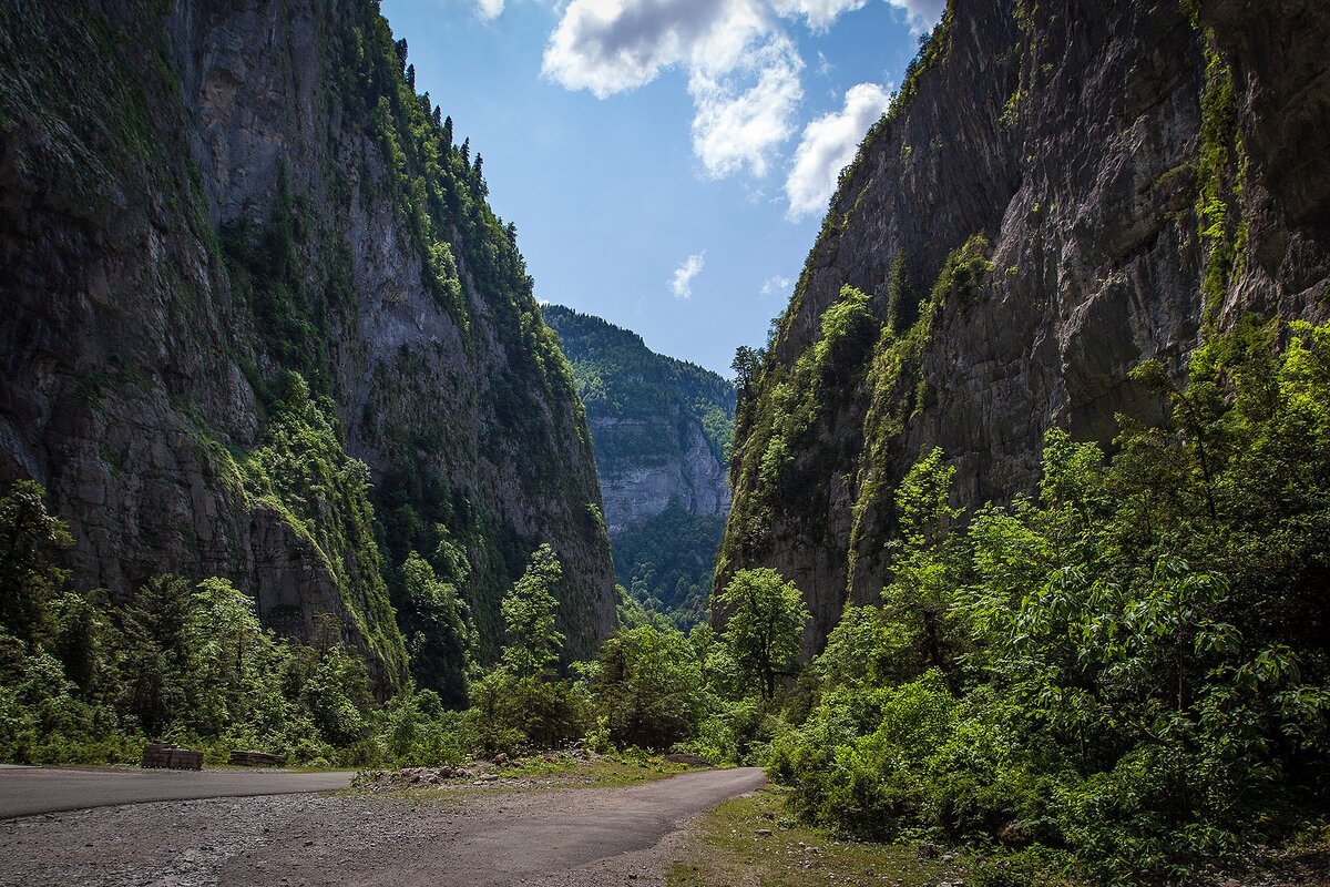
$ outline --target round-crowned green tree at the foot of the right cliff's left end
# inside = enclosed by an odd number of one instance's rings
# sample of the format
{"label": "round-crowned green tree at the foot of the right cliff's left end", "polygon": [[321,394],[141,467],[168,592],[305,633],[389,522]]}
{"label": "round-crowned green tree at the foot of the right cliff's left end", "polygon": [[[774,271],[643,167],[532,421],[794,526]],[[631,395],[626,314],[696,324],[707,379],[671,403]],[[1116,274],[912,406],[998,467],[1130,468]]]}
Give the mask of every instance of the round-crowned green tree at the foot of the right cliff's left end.
{"label": "round-crowned green tree at the foot of the right cliff's left end", "polygon": [[803,592],[763,567],[735,573],[716,602],[726,614],[725,642],[739,680],[763,699],[773,698],[779,681],[795,674],[811,618]]}

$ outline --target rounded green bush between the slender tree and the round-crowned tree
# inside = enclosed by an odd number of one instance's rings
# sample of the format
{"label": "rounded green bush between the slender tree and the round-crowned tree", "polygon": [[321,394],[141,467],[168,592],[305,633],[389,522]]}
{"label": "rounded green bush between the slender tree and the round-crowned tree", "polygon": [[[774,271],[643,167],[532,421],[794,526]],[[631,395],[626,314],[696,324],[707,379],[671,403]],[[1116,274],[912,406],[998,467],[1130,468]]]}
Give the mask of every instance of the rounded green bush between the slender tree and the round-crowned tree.
{"label": "rounded green bush between the slender tree and the round-crowned tree", "polygon": [[701,664],[677,629],[621,630],[595,673],[597,710],[621,746],[669,749],[697,730],[706,709]]}

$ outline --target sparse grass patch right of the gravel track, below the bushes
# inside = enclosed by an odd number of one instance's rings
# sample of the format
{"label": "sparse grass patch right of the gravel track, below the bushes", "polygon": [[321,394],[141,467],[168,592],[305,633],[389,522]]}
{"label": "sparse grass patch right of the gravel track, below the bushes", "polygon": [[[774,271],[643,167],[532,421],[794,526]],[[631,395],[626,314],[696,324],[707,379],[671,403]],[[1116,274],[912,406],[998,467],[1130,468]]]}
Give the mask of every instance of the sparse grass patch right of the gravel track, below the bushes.
{"label": "sparse grass patch right of the gravel track, below the bushes", "polygon": [[806,884],[970,883],[967,858],[918,847],[843,840],[791,819],[781,790],[732,798],[698,823],[669,887],[805,887]]}

